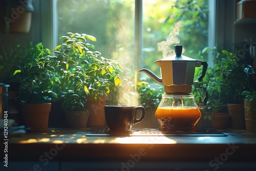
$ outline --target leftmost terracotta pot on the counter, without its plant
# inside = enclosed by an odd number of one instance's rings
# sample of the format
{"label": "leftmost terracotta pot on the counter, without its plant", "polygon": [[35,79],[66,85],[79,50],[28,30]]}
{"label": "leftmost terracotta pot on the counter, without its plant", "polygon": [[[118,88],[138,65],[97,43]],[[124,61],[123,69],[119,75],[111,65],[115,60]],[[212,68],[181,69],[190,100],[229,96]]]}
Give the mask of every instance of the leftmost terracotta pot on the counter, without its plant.
{"label": "leftmost terracotta pot on the counter, without its plant", "polygon": [[48,129],[51,103],[46,104],[19,104],[23,124],[30,127],[30,132],[42,132]]}

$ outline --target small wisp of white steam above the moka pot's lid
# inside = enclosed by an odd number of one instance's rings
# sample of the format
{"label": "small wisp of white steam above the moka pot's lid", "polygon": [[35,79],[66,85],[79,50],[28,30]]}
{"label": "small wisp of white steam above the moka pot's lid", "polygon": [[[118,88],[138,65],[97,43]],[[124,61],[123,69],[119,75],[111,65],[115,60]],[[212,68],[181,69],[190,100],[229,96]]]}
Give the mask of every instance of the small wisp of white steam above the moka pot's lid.
{"label": "small wisp of white steam above the moka pot's lid", "polygon": [[182,27],[181,21],[175,23],[173,31],[171,31],[166,41],[161,41],[157,44],[157,50],[163,53],[163,58],[175,55],[174,47],[171,45],[178,45],[180,39],[177,37]]}

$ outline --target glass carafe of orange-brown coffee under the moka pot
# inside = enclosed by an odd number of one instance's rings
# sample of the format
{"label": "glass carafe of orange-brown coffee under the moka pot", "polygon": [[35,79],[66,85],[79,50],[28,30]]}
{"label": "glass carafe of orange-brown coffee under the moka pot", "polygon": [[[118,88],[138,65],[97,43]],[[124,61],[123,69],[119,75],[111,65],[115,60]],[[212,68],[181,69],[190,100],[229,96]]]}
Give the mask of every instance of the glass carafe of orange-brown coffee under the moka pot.
{"label": "glass carafe of orange-brown coffee under the moka pot", "polygon": [[160,130],[193,129],[201,118],[195,96],[162,94],[155,117]]}

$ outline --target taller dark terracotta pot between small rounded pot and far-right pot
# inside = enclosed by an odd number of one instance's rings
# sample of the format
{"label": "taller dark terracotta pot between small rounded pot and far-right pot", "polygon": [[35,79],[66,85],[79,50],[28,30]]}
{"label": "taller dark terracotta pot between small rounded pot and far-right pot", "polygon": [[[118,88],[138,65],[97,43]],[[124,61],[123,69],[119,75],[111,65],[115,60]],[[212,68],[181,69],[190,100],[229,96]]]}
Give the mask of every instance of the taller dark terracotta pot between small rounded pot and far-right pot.
{"label": "taller dark terracotta pot between small rounded pot and far-right pot", "polygon": [[227,104],[233,129],[245,129],[244,104]]}

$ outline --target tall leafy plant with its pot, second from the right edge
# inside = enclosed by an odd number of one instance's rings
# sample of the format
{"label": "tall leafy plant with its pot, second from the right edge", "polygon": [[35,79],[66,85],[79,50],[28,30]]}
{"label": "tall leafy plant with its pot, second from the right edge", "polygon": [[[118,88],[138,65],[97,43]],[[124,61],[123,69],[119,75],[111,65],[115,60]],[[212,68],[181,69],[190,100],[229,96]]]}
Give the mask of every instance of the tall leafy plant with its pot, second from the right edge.
{"label": "tall leafy plant with its pot, second from the right edge", "polygon": [[[245,129],[244,102],[242,92],[248,90],[248,80],[244,72],[246,62],[241,55],[222,51],[226,59],[222,62],[221,70],[227,90],[227,107],[234,129]],[[229,97],[229,98],[228,98]]]}

